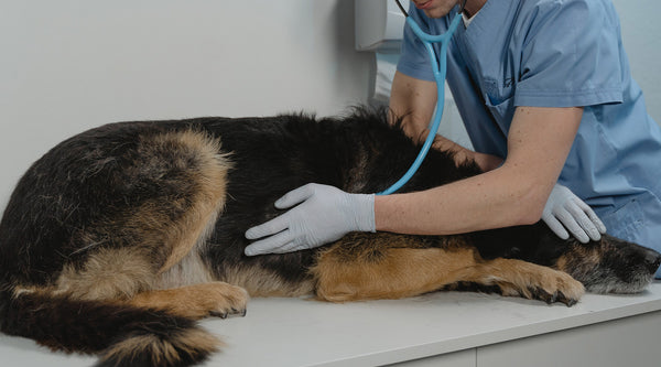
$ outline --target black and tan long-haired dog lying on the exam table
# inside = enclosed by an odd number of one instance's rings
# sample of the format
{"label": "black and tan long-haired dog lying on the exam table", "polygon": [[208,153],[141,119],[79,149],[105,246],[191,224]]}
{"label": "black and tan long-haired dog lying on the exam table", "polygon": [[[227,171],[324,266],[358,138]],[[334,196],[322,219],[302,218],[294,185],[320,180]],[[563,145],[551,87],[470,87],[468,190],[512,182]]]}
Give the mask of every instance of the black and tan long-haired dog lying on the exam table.
{"label": "black and tan long-haired dog lying on the exam table", "polygon": [[[350,234],[248,258],[243,233],[308,182],[386,188],[419,148],[386,114],[202,118],[104,126],[32,165],[0,223],[0,328],[102,366],[187,366],[218,341],[195,320],[252,296],[345,302],[477,289],[572,305],[638,292],[659,253],[609,236],[563,241],[541,224],[459,236]],[[404,187],[478,174],[432,151]]]}

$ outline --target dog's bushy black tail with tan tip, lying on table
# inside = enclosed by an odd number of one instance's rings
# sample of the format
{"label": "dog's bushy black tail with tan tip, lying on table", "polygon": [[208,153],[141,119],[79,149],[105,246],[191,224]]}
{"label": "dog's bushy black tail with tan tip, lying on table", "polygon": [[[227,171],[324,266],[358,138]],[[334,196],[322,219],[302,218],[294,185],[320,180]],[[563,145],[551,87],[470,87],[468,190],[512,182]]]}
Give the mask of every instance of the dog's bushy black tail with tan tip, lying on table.
{"label": "dog's bushy black tail with tan tip, lying on table", "polygon": [[194,320],[122,303],[46,292],[13,294],[0,285],[0,331],[54,350],[100,356],[97,366],[191,366],[219,341]]}

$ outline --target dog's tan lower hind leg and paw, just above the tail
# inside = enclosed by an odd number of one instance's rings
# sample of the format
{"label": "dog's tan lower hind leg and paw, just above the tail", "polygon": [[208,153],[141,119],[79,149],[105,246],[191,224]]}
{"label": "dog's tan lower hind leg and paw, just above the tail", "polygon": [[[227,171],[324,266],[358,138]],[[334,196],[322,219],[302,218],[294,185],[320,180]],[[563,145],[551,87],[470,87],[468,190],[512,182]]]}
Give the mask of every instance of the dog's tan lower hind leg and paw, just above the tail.
{"label": "dog's tan lower hind leg and paw, just above the tail", "polygon": [[[196,251],[194,248],[193,251]],[[123,248],[100,250],[84,269],[59,277],[55,293],[76,300],[110,301],[198,320],[246,312],[248,294],[239,287],[215,282],[197,253],[189,253],[171,270],[158,273],[149,252]],[[173,279],[173,278],[177,279]]]}

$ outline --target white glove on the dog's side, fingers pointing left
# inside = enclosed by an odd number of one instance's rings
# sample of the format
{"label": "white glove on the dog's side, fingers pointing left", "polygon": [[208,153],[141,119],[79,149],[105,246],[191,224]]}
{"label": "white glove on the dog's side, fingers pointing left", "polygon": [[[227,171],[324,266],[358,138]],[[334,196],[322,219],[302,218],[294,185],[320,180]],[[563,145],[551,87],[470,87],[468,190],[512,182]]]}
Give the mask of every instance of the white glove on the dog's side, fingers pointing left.
{"label": "white glove on the dog's side, fingers pointing left", "polygon": [[[246,247],[246,255],[283,253],[318,247],[349,231],[375,231],[375,195],[348,194],[319,184],[289,192],[275,207],[289,212],[246,231],[260,239]],[[267,237],[268,236],[268,237]]]}

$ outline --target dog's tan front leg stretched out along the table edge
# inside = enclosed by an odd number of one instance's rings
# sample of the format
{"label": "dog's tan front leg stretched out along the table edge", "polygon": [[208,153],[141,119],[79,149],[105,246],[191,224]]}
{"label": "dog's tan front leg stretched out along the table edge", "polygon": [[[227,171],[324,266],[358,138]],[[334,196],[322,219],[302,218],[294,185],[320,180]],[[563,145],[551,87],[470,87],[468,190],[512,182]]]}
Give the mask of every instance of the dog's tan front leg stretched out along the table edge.
{"label": "dog's tan front leg stretched out along the table edge", "polygon": [[[460,241],[459,239],[456,239]],[[533,263],[483,260],[463,244],[425,248],[415,237],[354,235],[318,256],[311,269],[317,298],[332,302],[400,299],[469,282],[497,287],[503,295],[573,304],[584,292],[568,274]]]}

